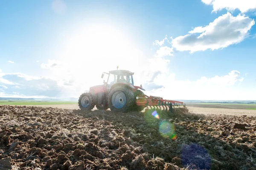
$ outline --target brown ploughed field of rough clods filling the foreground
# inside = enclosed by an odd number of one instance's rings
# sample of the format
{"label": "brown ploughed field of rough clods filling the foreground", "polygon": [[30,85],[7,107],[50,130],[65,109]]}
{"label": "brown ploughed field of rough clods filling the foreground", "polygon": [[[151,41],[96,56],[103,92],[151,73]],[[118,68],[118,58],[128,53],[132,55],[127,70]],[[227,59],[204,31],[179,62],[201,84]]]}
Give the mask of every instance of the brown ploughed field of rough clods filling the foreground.
{"label": "brown ploughed field of rough clods filling the foreground", "polygon": [[0,169],[256,170],[256,117],[0,105]]}

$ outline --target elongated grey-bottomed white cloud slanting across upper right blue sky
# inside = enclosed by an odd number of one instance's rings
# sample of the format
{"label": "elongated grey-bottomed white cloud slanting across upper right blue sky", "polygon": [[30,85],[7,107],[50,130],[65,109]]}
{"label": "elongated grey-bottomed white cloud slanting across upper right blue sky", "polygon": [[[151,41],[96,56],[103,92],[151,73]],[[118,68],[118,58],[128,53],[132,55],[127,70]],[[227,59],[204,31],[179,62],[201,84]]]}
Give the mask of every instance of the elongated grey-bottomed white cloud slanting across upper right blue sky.
{"label": "elongated grey-bottomed white cloud slanting across upper right blue sky", "polygon": [[249,17],[240,14],[234,17],[228,12],[207,26],[196,27],[190,34],[176,37],[172,40],[172,47],[190,52],[224,48],[244,40],[254,24]]}

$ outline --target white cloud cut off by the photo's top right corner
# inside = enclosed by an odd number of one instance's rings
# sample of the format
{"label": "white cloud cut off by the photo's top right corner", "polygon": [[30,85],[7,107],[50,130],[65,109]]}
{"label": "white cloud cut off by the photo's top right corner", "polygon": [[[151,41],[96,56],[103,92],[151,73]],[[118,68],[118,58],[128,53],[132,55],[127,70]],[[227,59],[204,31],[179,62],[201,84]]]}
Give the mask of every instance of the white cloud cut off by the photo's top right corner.
{"label": "white cloud cut off by the photo's top right corner", "polygon": [[256,9],[256,0],[202,0],[202,2],[212,5],[214,12],[222,9],[228,11],[239,9],[242,13],[245,13]]}

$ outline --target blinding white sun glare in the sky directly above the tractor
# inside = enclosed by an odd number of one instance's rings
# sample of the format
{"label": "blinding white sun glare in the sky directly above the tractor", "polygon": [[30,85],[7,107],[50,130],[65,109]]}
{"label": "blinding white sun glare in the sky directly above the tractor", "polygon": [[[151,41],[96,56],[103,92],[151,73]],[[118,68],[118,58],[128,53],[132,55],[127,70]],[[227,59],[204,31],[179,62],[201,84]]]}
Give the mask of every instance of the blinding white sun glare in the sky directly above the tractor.
{"label": "blinding white sun glare in the sky directly above the tractor", "polygon": [[[128,69],[135,72],[143,59],[142,52],[128,36],[115,26],[92,24],[80,27],[67,38],[61,50],[59,60],[63,68],[59,75],[73,78],[76,84],[89,86],[102,84],[102,72],[116,69]],[[108,76],[104,77],[105,81]]]}

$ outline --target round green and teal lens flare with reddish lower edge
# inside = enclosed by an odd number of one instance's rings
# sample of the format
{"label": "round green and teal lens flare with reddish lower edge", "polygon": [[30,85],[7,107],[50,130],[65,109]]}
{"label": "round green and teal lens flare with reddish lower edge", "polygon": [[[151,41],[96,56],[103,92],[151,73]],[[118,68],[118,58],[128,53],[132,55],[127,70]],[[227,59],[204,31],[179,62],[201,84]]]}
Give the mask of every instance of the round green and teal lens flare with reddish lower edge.
{"label": "round green and teal lens flare with reddish lower edge", "polygon": [[175,134],[175,126],[168,121],[160,122],[159,132],[163,137],[171,138],[172,140],[177,139],[177,135]]}

